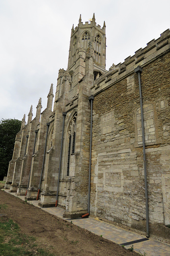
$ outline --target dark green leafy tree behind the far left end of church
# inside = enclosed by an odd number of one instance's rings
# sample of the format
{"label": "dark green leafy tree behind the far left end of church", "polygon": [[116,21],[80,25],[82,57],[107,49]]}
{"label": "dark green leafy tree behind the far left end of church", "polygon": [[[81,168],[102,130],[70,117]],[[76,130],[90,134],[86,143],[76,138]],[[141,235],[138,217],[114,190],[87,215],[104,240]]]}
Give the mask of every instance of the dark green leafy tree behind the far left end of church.
{"label": "dark green leafy tree behind the far left end of church", "polygon": [[17,119],[0,120],[0,176],[6,176],[12,159],[16,134],[20,131],[21,121]]}

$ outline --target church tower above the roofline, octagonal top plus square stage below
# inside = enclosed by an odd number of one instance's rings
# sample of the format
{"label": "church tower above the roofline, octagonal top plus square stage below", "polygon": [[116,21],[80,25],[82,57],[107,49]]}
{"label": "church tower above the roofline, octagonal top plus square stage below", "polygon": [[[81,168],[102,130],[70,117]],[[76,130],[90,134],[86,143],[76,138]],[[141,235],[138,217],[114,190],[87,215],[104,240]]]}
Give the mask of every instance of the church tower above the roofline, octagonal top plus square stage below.
{"label": "church tower above the roofline, octagonal top plus square stage below", "polygon": [[[86,60],[92,56],[92,64],[89,67]],[[106,70],[106,24],[101,28],[96,25],[95,15],[90,21],[83,24],[81,14],[78,26],[71,29],[70,48],[67,69],[59,70],[55,102],[66,93],[68,102],[76,97],[79,90],[79,82],[87,74],[90,68],[92,82]],[[68,103],[67,102],[67,103]],[[55,108],[55,106],[54,106]]]}

